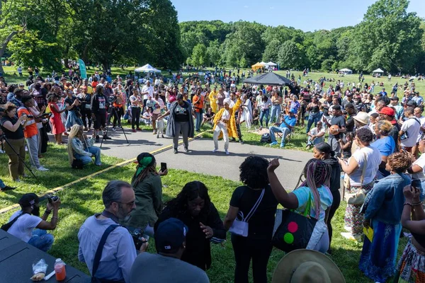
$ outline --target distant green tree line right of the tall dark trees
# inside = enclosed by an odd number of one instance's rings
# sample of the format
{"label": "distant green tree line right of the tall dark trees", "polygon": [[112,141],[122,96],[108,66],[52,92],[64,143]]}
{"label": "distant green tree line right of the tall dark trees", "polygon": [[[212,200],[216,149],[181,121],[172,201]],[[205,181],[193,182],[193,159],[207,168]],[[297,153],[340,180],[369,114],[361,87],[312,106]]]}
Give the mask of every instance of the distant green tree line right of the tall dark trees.
{"label": "distant green tree line right of the tall dark trees", "polygon": [[181,50],[194,66],[249,67],[262,60],[281,69],[424,73],[425,21],[408,6],[379,0],[358,25],[307,33],[256,22],[188,21],[180,23]]}

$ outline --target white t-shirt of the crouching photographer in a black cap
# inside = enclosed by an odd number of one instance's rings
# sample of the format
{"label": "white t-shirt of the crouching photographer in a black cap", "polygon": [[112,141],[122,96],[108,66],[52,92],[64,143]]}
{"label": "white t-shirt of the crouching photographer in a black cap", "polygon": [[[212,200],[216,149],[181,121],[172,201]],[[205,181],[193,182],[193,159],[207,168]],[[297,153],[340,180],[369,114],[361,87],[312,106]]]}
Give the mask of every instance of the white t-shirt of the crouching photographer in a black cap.
{"label": "white t-shirt of the crouching photographer in a black cap", "polygon": [[[9,222],[15,219],[22,211],[15,212],[12,214]],[[35,227],[40,224],[42,219],[35,215],[23,214],[23,216],[19,217],[15,223],[8,229],[8,233],[15,236],[16,238],[20,238],[22,241],[28,243],[30,241],[31,236],[33,236],[33,230]]]}

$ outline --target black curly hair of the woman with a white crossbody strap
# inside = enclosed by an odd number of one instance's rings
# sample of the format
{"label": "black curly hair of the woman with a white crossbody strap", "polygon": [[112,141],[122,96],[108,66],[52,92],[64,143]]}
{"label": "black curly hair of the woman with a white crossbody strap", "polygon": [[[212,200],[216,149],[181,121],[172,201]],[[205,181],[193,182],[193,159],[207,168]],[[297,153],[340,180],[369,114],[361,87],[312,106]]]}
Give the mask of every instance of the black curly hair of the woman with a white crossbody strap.
{"label": "black curly hair of the woman with a white crossbody strap", "polygon": [[268,185],[268,161],[261,156],[248,156],[239,166],[239,178],[248,187],[259,189]]}

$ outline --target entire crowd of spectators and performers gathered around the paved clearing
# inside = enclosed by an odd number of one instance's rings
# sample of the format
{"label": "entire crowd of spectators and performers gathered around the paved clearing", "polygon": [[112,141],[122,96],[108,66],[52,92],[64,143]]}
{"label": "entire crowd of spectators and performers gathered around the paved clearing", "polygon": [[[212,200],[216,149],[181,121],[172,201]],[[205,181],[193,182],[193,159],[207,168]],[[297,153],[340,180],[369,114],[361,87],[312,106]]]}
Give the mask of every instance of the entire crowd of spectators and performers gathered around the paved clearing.
{"label": "entire crowd of spectators and performers gathered around the paved clearing", "polygon": [[[375,94],[375,83],[364,83],[362,76],[357,84],[338,80],[328,88],[325,78],[307,80],[302,86],[293,78],[288,88],[246,84],[238,88],[235,74],[222,73],[220,70],[220,84],[212,81],[217,73],[187,79],[181,86],[172,81],[166,84],[161,76],[152,81],[128,76],[124,82],[119,76],[114,80],[107,76],[108,81],[95,73],[89,79],[72,76],[70,81],[62,76],[59,82],[36,78],[29,91],[24,86],[8,86],[1,128],[11,178],[18,181],[25,175],[25,147],[31,165],[48,170],[40,164],[40,156],[47,150],[47,132],[55,135],[57,144],[63,144],[62,134],[69,136],[69,165],[78,168],[91,163],[93,157],[94,164],[101,165],[100,149],[94,144],[100,137],[110,139],[105,132],[109,122],[114,131],[122,127],[121,120],[129,120],[135,132],[142,119],[152,125],[157,137],[166,128],[165,134],[173,137],[174,154],[179,152],[180,134],[184,151],[189,151],[188,138],[208,124],[214,133],[213,152],[219,150],[218,139],[223,137],[229,154],[229,141],[244,142],[243,124],[248,129],[256,125],[268,128],[271,145],[280,139],[283,148],[288,135],[307,120],[305,139],[307,148],[312,148],[312,159],[302,172],[305,180],[287,192],[279,180],[282,176],[275,173],[277,159],[248,157],[239,167],[243,185],[235,188],[225,219],[220,219],[208,188],[198,181],[187,183],[179,195],[163,203],[161,176],[167,172],[157,171],[154,156],[140,154],[131,184],[108,183],[103,191],[105,210],[81,226],[79,260],[86,262],[92,276],[102,279],[160,282],[155,281],[157,272],[170,265],[169,272],[160,272],[164,280],[172,274],[182,282],[194,278],[208,282],[205,270],[213,260],[211,243],[225,241],[230,231],[234,281],[248,282],[252,260],[254,282],[267,282],[278,204],[316,219],[303,248],[331,254],[331,219],[341,202],[344,178],[346,232],[341,236],[363,243],[360,270],[375,282],[386,282],[393,275],[399,282],[420,281],[425,276],[425,246],[421,243],[425,234],[421,221],[425,217],[425,117],[424,100],[414,82],[396,83],[390,94],[385,88]],[[401,101],[397,91],[403,93]],[[89,138],[84,132],[91,125]],[[21,212],[11,221],[17,219],[15,227],[28,226],[16,230],[12,225],[9,231],[48,250],[53,238],[45,230],[55,229],[60,200],[47,204],[42,217],[36,195],[24,195],[20,204]],[[50,212],[52,221],[47,222]],[[18,219],[24,214],[28,215]],[[245,233],[234,228],[241,219],[249,222]],[[131,233],[124,226],[142,229],[144,240],[137,248],[140,255],[132,248]],[[397,265],[403,227],[410,232],[409,242]],[[108,260],[96,262],[96,249],[106,231],[110,236],[103,243],[102,258]],[[146,253],[149,237],[155,239],[156,255]],[[145,268],[150,271],[139,272]]]}

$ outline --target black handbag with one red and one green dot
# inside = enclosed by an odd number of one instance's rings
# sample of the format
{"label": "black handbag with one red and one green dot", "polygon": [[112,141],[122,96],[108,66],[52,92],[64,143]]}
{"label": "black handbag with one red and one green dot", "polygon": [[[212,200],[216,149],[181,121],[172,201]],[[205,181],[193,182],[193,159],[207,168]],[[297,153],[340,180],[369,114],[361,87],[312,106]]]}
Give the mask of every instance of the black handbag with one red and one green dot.
{"label": "black handbag with one red and one green dot", "polygon": [[297,214],[290,209],[283,209],[282,223],[274,233],[271,243],[279,250],[289,253],[293,250],[307,248],[312,237],[317,219],[310,217],[312,197],[305,208],[304,214]]}

